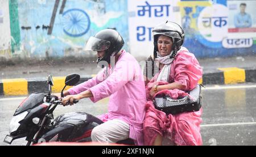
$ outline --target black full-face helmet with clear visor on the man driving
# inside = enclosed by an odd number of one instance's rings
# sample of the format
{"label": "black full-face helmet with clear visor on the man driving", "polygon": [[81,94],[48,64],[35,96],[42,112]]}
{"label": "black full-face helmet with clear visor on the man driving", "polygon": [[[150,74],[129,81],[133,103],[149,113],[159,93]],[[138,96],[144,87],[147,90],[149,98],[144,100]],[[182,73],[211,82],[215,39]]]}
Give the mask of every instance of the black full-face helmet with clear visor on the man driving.
{"label": "black full-face helmet with clear visor on the man driving", "polygon": [[115,30],[105,29],[98,32],[94,37],[91,36],[86,43],[86,50],[90,51],[105,51],[105,56],[97,60],[97,63],[104,60],[110,64],[110,57],[117,55],[122,49],[122,36]]}

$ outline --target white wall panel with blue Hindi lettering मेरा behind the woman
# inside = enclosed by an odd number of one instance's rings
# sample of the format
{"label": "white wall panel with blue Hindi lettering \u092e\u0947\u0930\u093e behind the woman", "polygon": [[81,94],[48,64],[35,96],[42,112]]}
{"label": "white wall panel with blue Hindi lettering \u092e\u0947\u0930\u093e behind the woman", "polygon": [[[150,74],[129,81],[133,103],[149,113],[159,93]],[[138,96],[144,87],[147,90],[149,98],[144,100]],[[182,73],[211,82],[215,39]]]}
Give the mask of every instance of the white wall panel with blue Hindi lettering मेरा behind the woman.
{"label": "white wall panel with blue Hindi lettering \u092e\u0947\u0930\u093e behind the woman", "polygon": [[130,51],[135,57],[150,56],[154,49],[152,28],[167,20],[180,24],[177,0],[129,0]]}

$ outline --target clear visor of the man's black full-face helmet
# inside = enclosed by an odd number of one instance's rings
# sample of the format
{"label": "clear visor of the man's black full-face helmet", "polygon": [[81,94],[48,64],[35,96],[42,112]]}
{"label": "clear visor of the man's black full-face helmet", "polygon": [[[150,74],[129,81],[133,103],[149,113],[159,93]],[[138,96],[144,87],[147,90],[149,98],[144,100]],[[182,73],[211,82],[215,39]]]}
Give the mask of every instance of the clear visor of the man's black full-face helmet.
{"label": "clear visor of the man's black full-face helmet", "polygon": [[105,51],[109,49],[110,42],[104,39],[98,39],[91,36],[86,43],[85,51]]}

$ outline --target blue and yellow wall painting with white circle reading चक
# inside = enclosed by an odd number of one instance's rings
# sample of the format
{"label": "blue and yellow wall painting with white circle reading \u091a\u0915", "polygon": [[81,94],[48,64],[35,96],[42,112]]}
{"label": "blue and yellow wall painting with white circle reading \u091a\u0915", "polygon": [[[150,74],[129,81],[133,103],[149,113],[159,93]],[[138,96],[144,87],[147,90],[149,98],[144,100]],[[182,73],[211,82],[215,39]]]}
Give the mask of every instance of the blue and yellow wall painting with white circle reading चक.
{"label": "blue and yellow wall painting with white circle reading \u091a\u0915", "polygon": [[[184,46],[197,57],[255,53],[256,1],[181,0],[179,6],[185,31]],[[245,19],[238,15],[241,10],[246,13]],[[237,24],[235,19],[245,24]]]}

